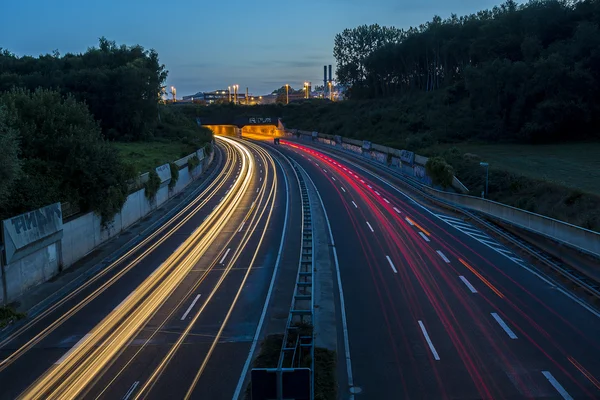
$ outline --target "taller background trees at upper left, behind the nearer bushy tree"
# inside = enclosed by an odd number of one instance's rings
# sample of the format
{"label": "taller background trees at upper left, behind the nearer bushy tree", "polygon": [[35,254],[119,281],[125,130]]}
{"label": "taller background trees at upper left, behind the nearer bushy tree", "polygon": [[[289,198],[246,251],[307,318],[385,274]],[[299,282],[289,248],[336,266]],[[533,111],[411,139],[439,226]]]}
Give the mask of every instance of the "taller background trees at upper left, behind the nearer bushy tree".
{"label": "taller background trees at upper left, behind the nearer bushy tree", "polygon": [[104,134],[116,140],[140,140],[152,134],[158,93],[167,77],[154,50],[117,46],[102,37],[83,54],[39,58],[0,53],[0,92],[12,87],[58,89],[85,101]]}

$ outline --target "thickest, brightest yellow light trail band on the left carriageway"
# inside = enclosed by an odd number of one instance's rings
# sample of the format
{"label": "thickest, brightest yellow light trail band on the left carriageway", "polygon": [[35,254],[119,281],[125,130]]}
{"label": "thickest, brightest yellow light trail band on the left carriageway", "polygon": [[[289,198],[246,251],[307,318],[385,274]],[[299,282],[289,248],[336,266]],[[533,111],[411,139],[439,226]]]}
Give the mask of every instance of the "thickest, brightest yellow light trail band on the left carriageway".
{"label": "thickest, brightest yellow light trail band on the left carriageway", "polygon": [[[23,399],[73,399],[100,373],[202,257],[233,215],[250,185],[254,159],[243,146],[232,142],[242,155],[241,173],[234,187],[192,235],[152,273],[89,336],[21,395]],[[142,301],[143,300],[143,301]]]}

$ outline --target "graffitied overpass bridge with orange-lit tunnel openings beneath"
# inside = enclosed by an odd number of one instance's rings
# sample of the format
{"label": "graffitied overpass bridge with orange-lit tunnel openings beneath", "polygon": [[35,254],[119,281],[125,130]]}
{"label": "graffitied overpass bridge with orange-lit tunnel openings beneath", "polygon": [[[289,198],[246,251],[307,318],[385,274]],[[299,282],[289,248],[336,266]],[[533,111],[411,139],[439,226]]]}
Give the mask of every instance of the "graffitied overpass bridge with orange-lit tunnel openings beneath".
{"label": "graffitied overpass bridge with orange-lit tunnel openings beneath", "polygon": [[196,122],[213,131],[216,135],[242,137],[245,134],[258,134],[273,137],[283,136],[283,124],[279,117],[272,116],[240,116],[198,117]]}

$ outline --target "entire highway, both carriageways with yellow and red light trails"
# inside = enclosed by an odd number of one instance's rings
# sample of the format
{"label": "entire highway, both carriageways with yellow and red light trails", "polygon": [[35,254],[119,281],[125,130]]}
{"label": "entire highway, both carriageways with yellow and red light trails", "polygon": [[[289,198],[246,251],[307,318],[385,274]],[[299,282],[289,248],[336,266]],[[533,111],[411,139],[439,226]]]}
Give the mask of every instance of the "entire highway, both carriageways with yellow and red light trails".
{"label": "entire highway, both carriageways with yellow and red light trails", "polygon": [[217,137],[189,204],[0,341],[1,399],[244,398],[265,315],[292,295],[292,163],[335,241],[340,398],[600,398],[596,309],[360,158],[248,138]]}

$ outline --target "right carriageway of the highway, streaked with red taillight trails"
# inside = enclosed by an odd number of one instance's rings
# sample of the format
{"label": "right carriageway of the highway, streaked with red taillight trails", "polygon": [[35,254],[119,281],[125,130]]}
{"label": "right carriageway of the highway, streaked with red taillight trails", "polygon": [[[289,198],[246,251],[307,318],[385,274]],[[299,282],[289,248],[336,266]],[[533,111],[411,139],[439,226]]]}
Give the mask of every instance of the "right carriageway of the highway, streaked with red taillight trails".
{"label": "right carriageway of the highway, streaked with red taillight trails", "polygon": [[329,215],[356,398],[600,398],[597,311],[365,162],[280,149]]}

